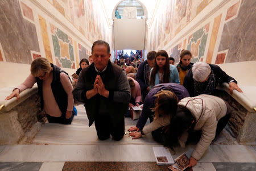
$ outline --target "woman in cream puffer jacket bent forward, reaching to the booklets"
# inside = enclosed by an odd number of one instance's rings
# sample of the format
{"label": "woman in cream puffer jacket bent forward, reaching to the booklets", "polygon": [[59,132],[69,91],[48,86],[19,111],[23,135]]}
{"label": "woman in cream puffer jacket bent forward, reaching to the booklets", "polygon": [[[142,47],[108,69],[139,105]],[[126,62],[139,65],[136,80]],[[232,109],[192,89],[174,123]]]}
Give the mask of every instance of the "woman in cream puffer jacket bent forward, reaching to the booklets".
{"label": "woman in cream puffer jacket bent forward, reaching to the booklets", "polygon": [[189,159],[189,165],[195,166],[229,118],[230,106],[219,97],[201,94],[183,98],[178,103],[176,115],[171,118],[169,135],[164,145],[172,147],[179,143],[182,147],[188,137],[195,138],[195,132],[201,131],[200,140]]}

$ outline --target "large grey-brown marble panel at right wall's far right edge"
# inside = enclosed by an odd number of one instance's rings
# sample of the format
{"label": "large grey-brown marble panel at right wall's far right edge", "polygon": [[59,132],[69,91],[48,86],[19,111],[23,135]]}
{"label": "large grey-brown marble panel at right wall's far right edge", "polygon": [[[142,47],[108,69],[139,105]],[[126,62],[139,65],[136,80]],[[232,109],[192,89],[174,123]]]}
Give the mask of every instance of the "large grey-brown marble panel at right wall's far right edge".
{"label": "large grey-brown marble panel at right wall's far right edge", "polygon": [[229,50],[226,63],[256,60],[255,6],[256,1],[243,0],[237,17],[224,24],[218,51]]}

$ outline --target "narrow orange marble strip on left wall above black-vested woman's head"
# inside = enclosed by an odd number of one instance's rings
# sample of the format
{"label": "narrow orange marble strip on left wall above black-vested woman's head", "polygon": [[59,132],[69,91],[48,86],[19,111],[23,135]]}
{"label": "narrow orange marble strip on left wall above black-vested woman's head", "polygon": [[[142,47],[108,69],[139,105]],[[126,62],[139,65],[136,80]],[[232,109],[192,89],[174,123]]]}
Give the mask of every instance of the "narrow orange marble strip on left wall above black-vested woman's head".
{"label": "narrow orange marble strip on left wall above black-vested woman's head", "polygon": [[48,61],[53,63],[52,51],[49,43],[49,36],[48,36],[48,31],[46,26],[46,19],[44,19],[40,15],[38,15],[38,18],[39,18],[39,24],[40,24],[41,34],[43,38],[44,52],[46,53],[46,58],[48,59]]}

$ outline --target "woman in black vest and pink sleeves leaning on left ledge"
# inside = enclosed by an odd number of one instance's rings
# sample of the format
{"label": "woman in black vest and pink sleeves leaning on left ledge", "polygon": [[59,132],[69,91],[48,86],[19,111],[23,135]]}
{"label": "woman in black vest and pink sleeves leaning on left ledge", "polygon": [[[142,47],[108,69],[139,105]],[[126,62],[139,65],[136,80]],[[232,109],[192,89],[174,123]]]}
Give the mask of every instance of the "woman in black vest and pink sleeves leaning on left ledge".
{"label": "woman in black vest and pink sleeves leaning on left ledge", "polygon": [[68,73],[43,57],[35,59],[30,70],[30,76],[6,99],[9,100],[16,96],[18,100],[19,93],[31,88],[36,82],[41,98],[41,107],[47,113],[48,122],[71,124],[75,107],[73,106],[73,87]]}

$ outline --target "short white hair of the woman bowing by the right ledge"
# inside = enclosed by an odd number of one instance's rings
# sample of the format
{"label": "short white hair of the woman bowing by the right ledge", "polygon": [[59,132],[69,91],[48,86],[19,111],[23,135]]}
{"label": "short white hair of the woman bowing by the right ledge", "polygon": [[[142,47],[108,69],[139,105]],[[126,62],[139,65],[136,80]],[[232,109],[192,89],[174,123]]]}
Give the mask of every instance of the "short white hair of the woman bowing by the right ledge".
{"label": "short white hair of the woman bowing by the right ledge", "polygon": [[196,62],[192,66],[193,79],[198,82],[207,80],[210,74],[210,65],[205,62]]}

